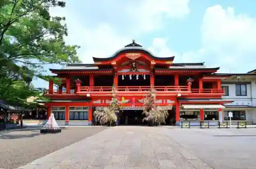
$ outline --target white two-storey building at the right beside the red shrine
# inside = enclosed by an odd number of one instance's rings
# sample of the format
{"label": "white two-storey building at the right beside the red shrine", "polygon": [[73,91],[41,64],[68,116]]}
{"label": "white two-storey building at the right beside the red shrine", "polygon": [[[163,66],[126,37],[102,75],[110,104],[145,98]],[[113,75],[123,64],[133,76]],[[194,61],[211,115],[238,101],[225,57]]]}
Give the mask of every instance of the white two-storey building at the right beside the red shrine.
{"label": "white two-storey building at the right beside the red shrine", "polygon": [[228,120],[228,112],[233,112],[233,121],[247,121],[256,124],[256,70],[244,74],[230,74],[222,80],[225,89],[223,99],[233,100],[224,106],[224,120]]}

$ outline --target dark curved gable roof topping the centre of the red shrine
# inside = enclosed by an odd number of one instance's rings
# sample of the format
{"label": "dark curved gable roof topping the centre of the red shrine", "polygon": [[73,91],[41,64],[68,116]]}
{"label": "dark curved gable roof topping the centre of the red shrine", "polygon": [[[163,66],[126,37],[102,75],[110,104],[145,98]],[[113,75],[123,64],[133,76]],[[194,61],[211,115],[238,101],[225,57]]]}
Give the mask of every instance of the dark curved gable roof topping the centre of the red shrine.
{"label": "dark curved gable roof topping the centre of the red shrine", "polygon": [[93,61],[94,62],[111,61],[113,59],[116,59],[118,57],[118,55],[120,55],[122,53],[126,53],[126,52],[141,52],[141,53],[148,55],[149,57],[151,57],[154,60],[162,60],[162,61],[173,61],[174,60],[174,57],[168,57],[168,58],[156,57],[153,53],[151,53],[147,49],[143,48],[141,45],[135,43],[135,41],[133,40],[133,43],[130,43],[130,44],[124,46],[123,48],[117,50],[109,58],[94,58],[93,57]]}

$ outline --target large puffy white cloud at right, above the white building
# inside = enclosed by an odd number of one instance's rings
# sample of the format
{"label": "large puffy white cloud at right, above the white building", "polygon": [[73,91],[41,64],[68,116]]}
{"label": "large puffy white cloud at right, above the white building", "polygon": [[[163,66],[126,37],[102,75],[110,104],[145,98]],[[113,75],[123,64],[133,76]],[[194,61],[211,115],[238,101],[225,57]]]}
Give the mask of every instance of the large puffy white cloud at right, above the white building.
{"label": "large puffy white cloud at right, above the white building", "polygon": [[[208,67],[221,66],[220,72],[226,73],[245,73],[256,67],[255,18],[235,14],[231,7],[209,7],[201,25],[201,41],[201,49],[178,54],[175,61],[206,62]],[[159,55],[169,50],[164,44]]]}

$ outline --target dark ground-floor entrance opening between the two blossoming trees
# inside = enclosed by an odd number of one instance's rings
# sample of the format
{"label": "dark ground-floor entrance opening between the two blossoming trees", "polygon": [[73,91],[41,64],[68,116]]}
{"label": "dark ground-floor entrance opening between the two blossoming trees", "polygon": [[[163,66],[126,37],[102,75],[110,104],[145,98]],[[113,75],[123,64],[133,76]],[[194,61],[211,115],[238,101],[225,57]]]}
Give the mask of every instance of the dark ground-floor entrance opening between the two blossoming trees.
{"label": "dark ground-floor entrance opening between the two blossoming trees", "polygon": [[120,125],[146,125],[142,122],[145,117],[142,110],[123,110],[120,113]]}

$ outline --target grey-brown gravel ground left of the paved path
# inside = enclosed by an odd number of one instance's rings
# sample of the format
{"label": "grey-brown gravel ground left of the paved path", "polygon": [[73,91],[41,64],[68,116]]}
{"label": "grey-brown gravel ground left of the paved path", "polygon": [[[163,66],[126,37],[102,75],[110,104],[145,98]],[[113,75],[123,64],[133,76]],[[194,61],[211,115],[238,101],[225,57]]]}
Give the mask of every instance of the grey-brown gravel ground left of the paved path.
{"label": "grey-brown gravel ground left of the paved path", "polygon": [[0,168],[23,166],[106,128],[62,128],[57,134],[40,134],[39,128],[0,131]]}

